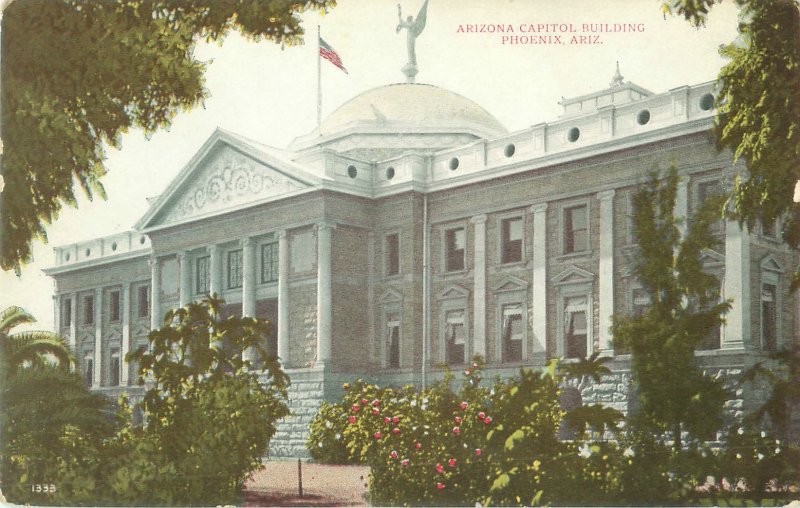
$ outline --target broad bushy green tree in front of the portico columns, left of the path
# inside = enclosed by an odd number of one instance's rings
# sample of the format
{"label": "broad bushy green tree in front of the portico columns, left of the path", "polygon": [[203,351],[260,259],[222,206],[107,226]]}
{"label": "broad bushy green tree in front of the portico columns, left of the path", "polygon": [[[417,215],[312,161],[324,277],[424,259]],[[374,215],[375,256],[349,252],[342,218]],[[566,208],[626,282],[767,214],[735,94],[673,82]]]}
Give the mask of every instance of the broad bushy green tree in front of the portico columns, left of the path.
{"label": "broad bushy green tree in front of the portico columns, left of the path", "polygon": [[[170,311],[150,332],[149,351],[128,356],[148,379],[146,423],[118,435],[111,504],[235,504],[261,467],[277,421],[289,413],[288,377],[261,346],[268,324],[223,319],[221,304],[208,298]],[[258,369],[244,358],[248,350]]]}

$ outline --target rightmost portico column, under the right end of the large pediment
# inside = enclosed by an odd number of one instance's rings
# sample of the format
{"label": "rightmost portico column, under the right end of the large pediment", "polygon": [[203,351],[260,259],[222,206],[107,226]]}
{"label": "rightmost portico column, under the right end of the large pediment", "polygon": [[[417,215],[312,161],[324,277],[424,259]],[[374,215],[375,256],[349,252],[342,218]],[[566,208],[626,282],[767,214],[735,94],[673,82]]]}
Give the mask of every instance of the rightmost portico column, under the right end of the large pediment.
{"label": "rightmost portico column, under the right end of the large pediment", "polygon": [[331,361],[332,259],[331,224],[317,224],[317,366],[327,367]]}

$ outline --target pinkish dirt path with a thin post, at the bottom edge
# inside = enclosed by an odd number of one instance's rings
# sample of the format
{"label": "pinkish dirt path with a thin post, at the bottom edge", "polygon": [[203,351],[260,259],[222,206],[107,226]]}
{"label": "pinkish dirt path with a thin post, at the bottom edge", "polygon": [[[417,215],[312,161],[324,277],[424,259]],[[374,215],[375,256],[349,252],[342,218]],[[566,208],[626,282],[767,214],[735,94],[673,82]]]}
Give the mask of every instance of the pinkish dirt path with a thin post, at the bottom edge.
{"label": "pinkish dirt path with a thin post, at the bottom edge", "polygon": [[269,461],[248,482],[243,506],[369,506],[364,500],[369,468],[303,462],[303,497],[297,461]]}

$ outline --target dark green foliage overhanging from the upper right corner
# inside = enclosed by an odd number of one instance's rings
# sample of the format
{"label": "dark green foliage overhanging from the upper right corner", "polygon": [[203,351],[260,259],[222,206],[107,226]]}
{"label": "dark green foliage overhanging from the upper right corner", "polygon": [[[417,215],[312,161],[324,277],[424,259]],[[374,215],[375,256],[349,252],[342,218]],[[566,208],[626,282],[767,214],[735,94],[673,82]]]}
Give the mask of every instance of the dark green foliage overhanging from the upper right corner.
{"label": "dark green foliage overhanging from the upper right corner", "polygon": [[[665,12],[694,25],[719,0],[671,0]],[[723,46],[714,135],[719,148],[747,161],[731,201],[750,227],[785,218],[783,238],[800,247],[800,205],[792,193],[800,180],[800,4],[796,0],[736,0],[740,40]],[[800,282],[795,274],[795,284]]]}

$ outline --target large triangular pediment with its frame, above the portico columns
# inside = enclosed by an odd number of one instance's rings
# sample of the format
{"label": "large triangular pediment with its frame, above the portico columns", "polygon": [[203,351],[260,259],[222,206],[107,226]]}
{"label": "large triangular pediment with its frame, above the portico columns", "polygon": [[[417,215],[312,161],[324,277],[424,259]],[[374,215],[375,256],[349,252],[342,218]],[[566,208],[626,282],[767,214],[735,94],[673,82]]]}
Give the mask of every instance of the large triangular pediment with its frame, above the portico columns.
{"label": "large triangular pediment with its frame, above the portico columns", "polygon": [[155,200],[137,228],[223,213],[302,191],[318,180],[263,147],[217,130]]}

